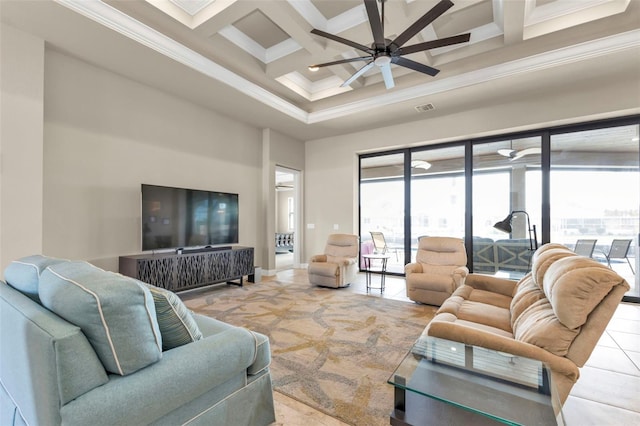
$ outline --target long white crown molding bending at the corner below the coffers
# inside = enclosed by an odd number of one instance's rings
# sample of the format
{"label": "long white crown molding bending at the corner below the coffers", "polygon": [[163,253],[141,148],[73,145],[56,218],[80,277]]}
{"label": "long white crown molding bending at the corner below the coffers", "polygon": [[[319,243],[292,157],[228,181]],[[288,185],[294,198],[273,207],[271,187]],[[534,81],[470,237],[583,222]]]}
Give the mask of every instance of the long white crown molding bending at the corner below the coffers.
{"label": "long white crown molding bending at the corner below the coffers", "polygon": [[442,78],[407,89],[394,90],[360,101],[314,112],[305,110],[235,74],[143,23],[99,0],[54,0],[89,19],[147,46],[185,66],[218,80],[239,92],[302,123],[315,124],[418,97],[488,82],[513,75],[606,56],[640,46],[640,29],[518,59],[508,63]]}

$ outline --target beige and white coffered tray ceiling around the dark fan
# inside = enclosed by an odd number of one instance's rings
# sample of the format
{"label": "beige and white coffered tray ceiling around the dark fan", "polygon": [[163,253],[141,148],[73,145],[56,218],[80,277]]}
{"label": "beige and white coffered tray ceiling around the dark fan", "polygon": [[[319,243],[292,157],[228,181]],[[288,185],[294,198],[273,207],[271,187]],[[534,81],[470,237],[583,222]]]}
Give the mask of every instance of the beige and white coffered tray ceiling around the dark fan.
{"label": "beige and white coffered tray ceiling around the dark fan", "polygon": [[[439,69],[435,77],[392,65],[395,87],[389,90],[377,67],[340,87],[362,62],[308,69],[362,56],[311,34],[314,28],[371,45],[362,0],[2,0],[1,5],[3,21],[38,34],[52,48],[303,139],[419,120],[433,110],[460,107],[460,93],[466,102],[482,102],[524,90],[554,90],[558,79],[569,76],[607,76],[613,68],[640,72],[639,0],[453,2],[407,44],[466,32],[470,41],[408,56]],[[393,39],[437,3],[387,0],[385,37]]]}

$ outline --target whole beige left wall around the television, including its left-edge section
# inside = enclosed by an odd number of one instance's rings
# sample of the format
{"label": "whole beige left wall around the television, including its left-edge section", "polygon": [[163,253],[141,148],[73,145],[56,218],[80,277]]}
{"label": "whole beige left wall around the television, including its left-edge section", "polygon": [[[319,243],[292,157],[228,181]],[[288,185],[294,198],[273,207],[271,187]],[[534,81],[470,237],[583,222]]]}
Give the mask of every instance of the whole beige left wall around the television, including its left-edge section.
{"label": "whole beige left wall around the television, including its left-edge section", "polygon": [[4,24],[2,73],[2,270],[34,253],[117,270],[141,250],[141,183],[238,193],[240,244],[256,248],[256,265],[274,263],[275,167],[302,171],[303,143]]}

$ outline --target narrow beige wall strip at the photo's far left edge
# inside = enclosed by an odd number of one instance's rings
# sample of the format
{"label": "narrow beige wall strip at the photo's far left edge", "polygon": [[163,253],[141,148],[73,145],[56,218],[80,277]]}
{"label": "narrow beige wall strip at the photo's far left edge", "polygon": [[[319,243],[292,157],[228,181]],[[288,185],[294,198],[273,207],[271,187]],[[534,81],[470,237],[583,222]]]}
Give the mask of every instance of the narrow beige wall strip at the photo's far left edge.
{"label": "narrow beige wall strip at the photo's far left edge", "polygon": [[0,24],[0,276],[43,249],[44,40]]}

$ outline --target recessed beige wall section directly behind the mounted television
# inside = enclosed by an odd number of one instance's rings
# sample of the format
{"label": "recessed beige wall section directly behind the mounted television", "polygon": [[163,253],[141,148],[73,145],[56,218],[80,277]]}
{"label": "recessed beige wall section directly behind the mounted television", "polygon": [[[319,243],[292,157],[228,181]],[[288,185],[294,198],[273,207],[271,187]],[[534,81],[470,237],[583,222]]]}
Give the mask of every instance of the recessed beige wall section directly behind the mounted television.
{"label": "recessed beige wall section directly behind the mounted television", "polygon": [[118,270],[141,251],[142,183],[239,194],[259,253],[261,131],[47,50],[43,247]]}

